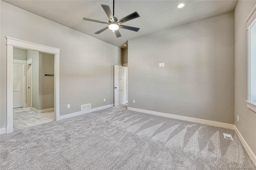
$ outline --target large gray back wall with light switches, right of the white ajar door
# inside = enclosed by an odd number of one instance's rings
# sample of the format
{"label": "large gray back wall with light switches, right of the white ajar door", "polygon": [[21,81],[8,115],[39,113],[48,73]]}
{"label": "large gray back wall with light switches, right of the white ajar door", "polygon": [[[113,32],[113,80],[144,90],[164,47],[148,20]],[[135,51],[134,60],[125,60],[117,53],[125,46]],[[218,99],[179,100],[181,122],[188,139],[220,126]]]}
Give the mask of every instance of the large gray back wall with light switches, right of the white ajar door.
{"label": "large gray back wall with light switches, right of the white ajar door", "polygon": [[234,124],[234,12],[134,38],[128,53],[128,107]]}

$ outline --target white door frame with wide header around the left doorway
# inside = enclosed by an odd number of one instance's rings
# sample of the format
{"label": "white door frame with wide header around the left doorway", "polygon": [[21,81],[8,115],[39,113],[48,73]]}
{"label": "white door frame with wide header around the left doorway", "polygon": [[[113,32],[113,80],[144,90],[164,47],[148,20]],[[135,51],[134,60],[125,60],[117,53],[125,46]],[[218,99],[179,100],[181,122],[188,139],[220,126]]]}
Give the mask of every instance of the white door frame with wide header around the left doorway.
{"label": "white door frame with wide header around the left doorway", "polygon": [[15,38],[6,37],[7,45],[7,120],[6,133],[13,132],[12,118],[12,65],[13,65],[13,47],[31,49],[44,53],[54,54],[54,114],[55,121],[60,120],[60,49],[41,45],[32,42],[26,42]]}

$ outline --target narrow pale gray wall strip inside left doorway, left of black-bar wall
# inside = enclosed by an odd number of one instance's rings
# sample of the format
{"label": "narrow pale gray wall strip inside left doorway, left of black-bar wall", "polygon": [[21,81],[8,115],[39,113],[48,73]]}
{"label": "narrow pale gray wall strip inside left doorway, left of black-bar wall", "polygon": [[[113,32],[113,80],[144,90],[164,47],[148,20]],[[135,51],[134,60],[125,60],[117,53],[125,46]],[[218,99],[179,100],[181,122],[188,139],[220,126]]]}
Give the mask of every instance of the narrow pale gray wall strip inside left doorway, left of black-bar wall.
{"label": "narrow pale gray wall strip inside left doorway, left of black-bar wall", "polygon": [[28,49],[27,59],[32,58],[32,107],[39,110],[39,52]]}

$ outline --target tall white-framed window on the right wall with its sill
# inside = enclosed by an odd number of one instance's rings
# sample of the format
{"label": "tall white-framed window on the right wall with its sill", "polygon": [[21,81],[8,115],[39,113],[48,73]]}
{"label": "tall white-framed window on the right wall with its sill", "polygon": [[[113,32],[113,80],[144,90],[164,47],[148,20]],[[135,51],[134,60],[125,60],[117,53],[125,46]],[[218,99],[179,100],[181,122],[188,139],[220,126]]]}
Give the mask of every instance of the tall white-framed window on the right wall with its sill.
{"label": "tall white-framed window on the right wall with its sill", "polygon": [[247,107],[256,111],[256,19],[248,31],[248,101]]}

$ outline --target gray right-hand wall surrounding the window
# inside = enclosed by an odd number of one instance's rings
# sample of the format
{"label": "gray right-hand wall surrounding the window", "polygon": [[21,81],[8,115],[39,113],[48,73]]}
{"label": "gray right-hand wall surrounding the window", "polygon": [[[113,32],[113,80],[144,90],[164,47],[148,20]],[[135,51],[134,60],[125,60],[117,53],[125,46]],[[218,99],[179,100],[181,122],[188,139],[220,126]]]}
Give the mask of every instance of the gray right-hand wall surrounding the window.
{"label": "gray right-hand wall surrounding the window", "polygon": [[[256,1],[238,1],[235,9],[235,125],[256,154],[256,113],[247,108],[247,24]],[[239,122],[237,121],[239,115]]]}

